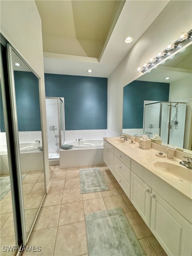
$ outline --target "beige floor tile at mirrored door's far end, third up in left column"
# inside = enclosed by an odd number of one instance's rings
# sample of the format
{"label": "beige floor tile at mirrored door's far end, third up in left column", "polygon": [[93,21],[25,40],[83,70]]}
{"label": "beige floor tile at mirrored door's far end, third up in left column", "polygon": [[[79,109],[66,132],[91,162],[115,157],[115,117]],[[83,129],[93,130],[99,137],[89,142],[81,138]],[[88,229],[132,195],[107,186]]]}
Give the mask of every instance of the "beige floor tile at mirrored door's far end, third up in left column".
{"label": "beige floor tile at mirrored door's far end, third up in left column", "polygon": [[63,196],[63,190],[49,191],[45,196],[42,207],[61,204]]}

